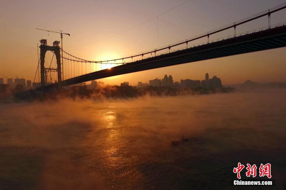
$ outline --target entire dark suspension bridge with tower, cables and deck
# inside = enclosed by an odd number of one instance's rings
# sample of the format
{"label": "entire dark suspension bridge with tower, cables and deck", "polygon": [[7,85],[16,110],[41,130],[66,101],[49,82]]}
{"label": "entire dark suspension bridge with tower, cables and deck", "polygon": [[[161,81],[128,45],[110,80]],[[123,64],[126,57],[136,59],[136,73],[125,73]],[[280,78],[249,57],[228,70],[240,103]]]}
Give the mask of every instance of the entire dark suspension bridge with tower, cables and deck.
{"label": "entire dark suspension bridge with tower, cables and deck", "polygon": [[[41,87],[43,89],[54,89],[110,76],[285,47],[286,22],[270,25],[270,15],[284,8],[286,8],[286,3],[174,45],[105,61],[90,61],[78,58],[61,49],[58,41],[55,41],[53,46],[47,46],[47,40],[43,39],[40,41],[39,59]],[[237,26],[264,16],[268,16],[268,26],[236,33]],[[211,35],[231,28],[234,29],[233,35],[213,40],[209,39]],[[208,41],[190,45],[190,42],[205,37]],[[185,47],[181,47],[184,45]],[[174,47],[180,48],[173,49]],[[45,57],[47,51],[53,53],[51,59]],[[56,55],[56,60],[53,59],[54,55]],[[56,63],[53,64],[53,60]],[[50,61],[51,63],[49,63]],[[56,68],[51,67],[52,65]],[[107,65],[110,68],[106,68]],[[57,83],[46,85],[47,77],[51,72],[57,72]]]}

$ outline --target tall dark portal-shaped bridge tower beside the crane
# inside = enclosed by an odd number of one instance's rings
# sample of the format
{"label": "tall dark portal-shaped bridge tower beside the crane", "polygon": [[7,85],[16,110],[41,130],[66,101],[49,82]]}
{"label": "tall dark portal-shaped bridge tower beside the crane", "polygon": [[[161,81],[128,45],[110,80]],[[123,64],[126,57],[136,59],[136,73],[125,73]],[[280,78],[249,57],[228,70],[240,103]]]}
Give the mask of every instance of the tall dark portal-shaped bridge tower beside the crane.
{"label": "tall dark portal-shaped bridge tower beside the crane", "polygon": [[60,46],[59,46],[59,41],[54,41],[53,46],[47,46],[47,40],[46,39],[41,39],[40,40],[41,45],[40,45],[40,73],[41,73],[41,87],[44,87],[45,84],[45,56],[47,51],[52,51],[54,52],[56,59],[57,59],[57,69],[56,71],[58,72],[58,84],[59,87],[61,85],[61,56],[60,56]]}

